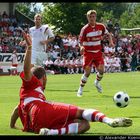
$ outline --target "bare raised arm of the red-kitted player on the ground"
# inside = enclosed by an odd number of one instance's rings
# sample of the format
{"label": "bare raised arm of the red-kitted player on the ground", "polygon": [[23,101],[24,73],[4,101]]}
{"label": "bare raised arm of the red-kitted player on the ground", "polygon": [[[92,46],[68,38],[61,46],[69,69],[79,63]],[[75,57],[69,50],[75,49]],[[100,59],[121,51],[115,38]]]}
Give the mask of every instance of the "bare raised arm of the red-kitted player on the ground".
{"label": "bare raised arm of the red-kitted player on the ground", "polygon": [[29,35],[27,35],[25,32],[22,32],[23,38],[26,41],[27,48],[26,48],[26,53],[25,53],[25,58],[24,58],[24,79],[25,80],[30,80],[32,77],[31,73],[31,50],[32,50],[32,45],[31,45],[31,38]]}

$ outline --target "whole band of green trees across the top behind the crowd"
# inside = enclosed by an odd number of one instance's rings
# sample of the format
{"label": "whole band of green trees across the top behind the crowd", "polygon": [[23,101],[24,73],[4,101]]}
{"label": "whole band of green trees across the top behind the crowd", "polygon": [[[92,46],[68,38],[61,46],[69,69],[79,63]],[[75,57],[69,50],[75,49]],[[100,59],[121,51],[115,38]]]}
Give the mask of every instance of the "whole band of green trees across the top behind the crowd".
{"label": "whole band of green trees across the top behind the crowd", "polygon": [[[97,22],[106,24],[119,23],[121,27],[139,26],[139,4],[132,3],[42,3],[44,10],[37,9],[37,3],[19,3],[17,9],[33,19],[35,13],[41,12],[43,23],[49,24],[56,33],[72,33],[78,35],[83,25],[87,23],[86,12],[97,11]],[[31,10],[33,9],[33,10]],[[131,16],[130,16],[131,15]]]}

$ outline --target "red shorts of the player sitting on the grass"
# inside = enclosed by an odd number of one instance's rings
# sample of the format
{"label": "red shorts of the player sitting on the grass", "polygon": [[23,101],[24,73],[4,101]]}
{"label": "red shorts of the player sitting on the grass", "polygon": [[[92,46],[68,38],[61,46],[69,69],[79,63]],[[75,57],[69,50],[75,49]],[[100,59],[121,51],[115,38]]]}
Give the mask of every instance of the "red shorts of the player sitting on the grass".
{"label": "red shorts of the player sitting on the grass", "polygon": [[32,128],[36,133],[41,128],[59,129],[66,127],[74,121],[78,109],[73,105],[53,102],[33,101],[32,105]]}

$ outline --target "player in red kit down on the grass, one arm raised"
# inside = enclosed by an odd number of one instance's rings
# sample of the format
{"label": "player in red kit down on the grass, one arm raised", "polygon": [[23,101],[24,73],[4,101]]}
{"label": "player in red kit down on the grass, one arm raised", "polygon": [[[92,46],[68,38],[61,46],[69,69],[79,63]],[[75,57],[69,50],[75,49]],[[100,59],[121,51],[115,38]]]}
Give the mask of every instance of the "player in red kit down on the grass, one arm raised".
{"label": "player in red kit down on the grass, one arm raised", "polygon": [[16,127],[20,117],[23,131],[40,135],[80,134],[90,129],[89,122],[101,122],[111,127],[129,127],[129,118],[109,118],[96,109],[80,107],[47,101],[44,89],[47,77],[44,68],[31,68],[31,41],[23,32],[27,42],[24,59],[24,70],[20,73],[22,86],[20,88],[20,103],[11,115],[10,127]]}

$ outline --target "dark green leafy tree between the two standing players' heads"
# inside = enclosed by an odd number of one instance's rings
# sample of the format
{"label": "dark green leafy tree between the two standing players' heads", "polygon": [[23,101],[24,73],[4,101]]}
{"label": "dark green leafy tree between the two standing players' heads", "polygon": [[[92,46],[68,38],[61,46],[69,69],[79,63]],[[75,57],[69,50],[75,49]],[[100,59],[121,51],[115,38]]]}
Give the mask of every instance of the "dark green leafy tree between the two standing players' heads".
{"label": "dark green leafy tree between the two standing players' heads", "polygon": [[54,25],[57,32],[78,34],[84,24],[84,14],[81,3],[45,4],[43,19],[44,22]]}

